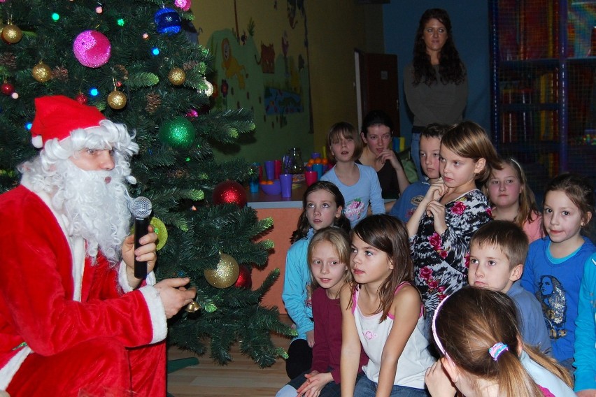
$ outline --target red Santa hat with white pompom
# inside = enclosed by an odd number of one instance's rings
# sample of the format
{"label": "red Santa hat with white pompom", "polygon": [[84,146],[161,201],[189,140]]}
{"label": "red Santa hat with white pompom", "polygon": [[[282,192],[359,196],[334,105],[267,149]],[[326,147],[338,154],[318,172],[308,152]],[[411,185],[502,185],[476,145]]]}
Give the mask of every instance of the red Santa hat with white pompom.
{"label": "red Santa hat with white pompom", "polygon": [[64,95],[35,99],[31,143],[38,149],[48,140],[69,138],[76,129],[99,127],[106,117],[94,106],[86,106]]}

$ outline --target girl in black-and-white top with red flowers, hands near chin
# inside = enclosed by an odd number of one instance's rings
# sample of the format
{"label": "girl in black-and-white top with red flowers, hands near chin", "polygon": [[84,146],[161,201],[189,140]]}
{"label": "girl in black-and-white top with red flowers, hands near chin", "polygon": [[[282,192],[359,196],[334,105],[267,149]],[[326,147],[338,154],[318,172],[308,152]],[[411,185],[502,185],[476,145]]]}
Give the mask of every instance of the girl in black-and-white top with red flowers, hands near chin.
{"label": "girl in black-and-white top with red flowers, hands near chin", "polygon": [[[441,179],[407,224],[414,282],[423,296],[427,324],[439,302],[467,284],[470,238],[491,219],[476,181],[501,168],[487,133],[474,122],[455,124],[445,133],[439,161]],[[425,326],[426,335],[428,331]]]}

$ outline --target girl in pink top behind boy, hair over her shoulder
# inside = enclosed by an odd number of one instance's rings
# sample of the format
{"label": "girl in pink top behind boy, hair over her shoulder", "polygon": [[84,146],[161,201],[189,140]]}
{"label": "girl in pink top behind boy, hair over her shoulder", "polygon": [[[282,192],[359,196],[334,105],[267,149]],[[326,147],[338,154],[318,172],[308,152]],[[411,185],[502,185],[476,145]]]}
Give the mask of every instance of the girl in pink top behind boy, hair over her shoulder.
{"label": "girl in pink top behind boy, hair over her shoulder", "polygon": [[503,169],[493,169],[482,189],[492,205],[492,218],[518,224],[532,243],[544,237],[534,193],[517,161],[501,159],[500,164]]}

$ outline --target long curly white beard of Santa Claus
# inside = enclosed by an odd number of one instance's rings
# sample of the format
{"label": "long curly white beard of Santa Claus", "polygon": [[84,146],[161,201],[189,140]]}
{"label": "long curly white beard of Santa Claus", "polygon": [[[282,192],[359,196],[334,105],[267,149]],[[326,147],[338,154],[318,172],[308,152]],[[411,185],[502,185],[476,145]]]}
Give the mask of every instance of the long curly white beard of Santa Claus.
{"label": "long curly white beard of Santa Claus", "polygon": [[57,161],[56,168],[62,183],[52,204],[69,219],[69,234],[85,239],[90,257],[101,251],[117,263],[131,219],[122,168],[117,164],[111,171],[84,171],[70,160]]}

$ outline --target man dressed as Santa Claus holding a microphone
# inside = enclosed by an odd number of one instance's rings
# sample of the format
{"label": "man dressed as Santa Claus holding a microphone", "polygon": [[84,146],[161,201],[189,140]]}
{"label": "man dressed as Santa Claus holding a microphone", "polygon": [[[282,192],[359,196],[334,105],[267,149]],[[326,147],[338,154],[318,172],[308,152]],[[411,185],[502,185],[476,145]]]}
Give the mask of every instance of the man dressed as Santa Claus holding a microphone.
{"label": "man dressed as Santa Claus holding a microphone", "polygon": [[[166,319],[187,278],[155,282],[157,235],[128,236],[122,124],[66,96],[36,99],[38,156],[0,195],[0,389],[10,396],[164,396]],[[134,259],[147,261],[146,280]]]}

